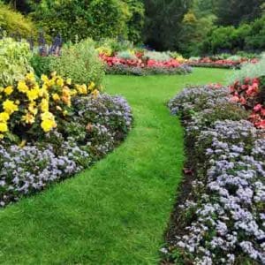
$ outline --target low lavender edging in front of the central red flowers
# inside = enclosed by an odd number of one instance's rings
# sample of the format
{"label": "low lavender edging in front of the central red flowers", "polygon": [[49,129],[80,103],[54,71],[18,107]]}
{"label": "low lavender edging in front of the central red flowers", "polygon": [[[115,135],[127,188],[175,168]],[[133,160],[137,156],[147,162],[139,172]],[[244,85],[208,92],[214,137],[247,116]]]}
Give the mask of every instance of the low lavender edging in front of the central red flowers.
{"label": "low lavender edging in front of the central red flowers", "polygon": [[155,75],[155,74],[187,74],[192,72],[192,68],[188,65],[181,65],[179,67],[140,67],[127,66],[125,64],[117,64],[107,66],[106,72],[108,74],[122,74],[122,75]]}

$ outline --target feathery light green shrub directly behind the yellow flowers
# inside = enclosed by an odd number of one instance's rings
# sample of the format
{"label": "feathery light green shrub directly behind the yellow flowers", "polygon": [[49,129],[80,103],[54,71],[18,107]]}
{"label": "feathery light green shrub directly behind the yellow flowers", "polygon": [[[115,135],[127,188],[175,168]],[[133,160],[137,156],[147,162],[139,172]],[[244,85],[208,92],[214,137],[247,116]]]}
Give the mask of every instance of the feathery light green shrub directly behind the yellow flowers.
{"label": "feathery light green shrub directly behind the yellow flowers", "polygon": [[104,66],[91,39],[64,47],[60,57],[51,57],[49,70],[78,84],[93,81],[100,86],[104,76]]}

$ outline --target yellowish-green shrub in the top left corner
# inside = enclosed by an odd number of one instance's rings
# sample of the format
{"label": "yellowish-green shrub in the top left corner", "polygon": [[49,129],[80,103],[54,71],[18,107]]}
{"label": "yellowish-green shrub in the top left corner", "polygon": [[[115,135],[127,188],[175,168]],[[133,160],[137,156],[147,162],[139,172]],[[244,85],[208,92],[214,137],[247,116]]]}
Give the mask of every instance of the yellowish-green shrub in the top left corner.
{"label": "yellowish-green shrub in the top left corner", "polygon": [[0,28],[8,35],[19,34],[27,38],[36,33],[36,29],[31,20],[26,19],[17,11],[12,11],[10,7],[0,2]]}

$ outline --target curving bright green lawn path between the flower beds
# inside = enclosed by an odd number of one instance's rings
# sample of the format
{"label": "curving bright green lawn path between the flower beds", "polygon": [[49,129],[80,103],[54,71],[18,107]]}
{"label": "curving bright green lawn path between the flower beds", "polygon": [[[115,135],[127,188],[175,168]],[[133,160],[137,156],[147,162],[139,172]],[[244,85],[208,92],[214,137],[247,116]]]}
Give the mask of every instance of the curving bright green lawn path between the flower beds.
{"label": "curving bright green lawn path between the flower beds", "polygon": [[165,106],[186,84],[229,71],[106,78],[134,128],[92,169],[0,211],[1,264],[156,264],[184,161],[183,132]]}

